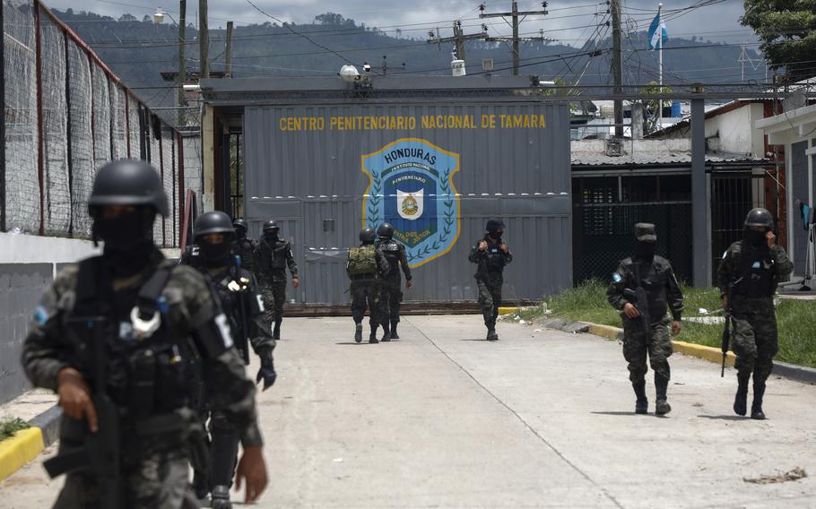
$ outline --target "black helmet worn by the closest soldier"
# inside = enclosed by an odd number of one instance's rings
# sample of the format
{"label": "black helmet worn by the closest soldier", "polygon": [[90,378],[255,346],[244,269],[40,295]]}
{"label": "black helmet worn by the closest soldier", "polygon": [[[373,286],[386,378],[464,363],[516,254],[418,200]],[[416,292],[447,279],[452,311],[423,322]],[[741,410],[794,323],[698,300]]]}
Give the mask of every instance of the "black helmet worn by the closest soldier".
{"label": "black helmet worn by the closest soldier", "polygon": [[167,194],[156,170],[143,160],[113,160],[100,168],[93,180],[88,211],[104,205],[143,205],[169,215]]}

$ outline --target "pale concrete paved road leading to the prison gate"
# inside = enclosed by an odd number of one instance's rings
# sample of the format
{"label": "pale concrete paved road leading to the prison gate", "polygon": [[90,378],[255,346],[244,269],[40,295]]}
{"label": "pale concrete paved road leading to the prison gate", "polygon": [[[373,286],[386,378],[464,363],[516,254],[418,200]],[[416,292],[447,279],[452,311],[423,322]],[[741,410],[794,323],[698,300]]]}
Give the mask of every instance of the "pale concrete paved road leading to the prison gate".
{"label": "pale concrete paved road leading to the prison gate", "polygon": [[[736,418],[734,372],[673,357],[668,418],[635,416],[621,347],[477,316],[412,316],[404,339],[351,341],[348,318],[287,320],[259,398],[273,484],[259,507],[808,507],[816,387],[772,379],[769,419]],[[653,391],[649,384],[650,393]],[[33,464],[3,507],[47,507]]]}

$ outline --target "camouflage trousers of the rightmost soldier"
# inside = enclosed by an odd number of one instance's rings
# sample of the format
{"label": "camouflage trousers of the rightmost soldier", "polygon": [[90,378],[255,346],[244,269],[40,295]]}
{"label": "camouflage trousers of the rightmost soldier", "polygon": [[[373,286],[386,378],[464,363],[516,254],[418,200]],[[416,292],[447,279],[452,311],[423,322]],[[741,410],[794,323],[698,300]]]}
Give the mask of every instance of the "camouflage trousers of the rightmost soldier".
{"label": "camouflage trousers of the rightmost soldier", "polygon": [[765,382],[774,368],[779,351],[777,315],[772,298],[734,302],[734,326],[731,349],[736,354],[734,367],[740,375],[754,375],[754,382]]}

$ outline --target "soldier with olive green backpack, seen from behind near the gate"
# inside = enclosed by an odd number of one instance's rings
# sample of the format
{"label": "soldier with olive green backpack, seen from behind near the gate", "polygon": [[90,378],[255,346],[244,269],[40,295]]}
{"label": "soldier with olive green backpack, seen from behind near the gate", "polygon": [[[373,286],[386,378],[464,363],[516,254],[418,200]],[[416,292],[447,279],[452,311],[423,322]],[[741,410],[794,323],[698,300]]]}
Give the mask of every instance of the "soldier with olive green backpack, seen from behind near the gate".
{"label": "soldier with olive green backpack, seen from behind near the gate", "polygon": [[[375,245],[377,232],[368,227],[360,231],[360,247],[349,250],[346,273],[352,281],[352,317],[354,318],[354,341],[362,341],[362,318],[369,309],[371,333],[369,343],[378,343],[377,328],[386,324],[388,316],[383,306],[382,281],[389,271],[386,257]],[[391,341],[391,335],[383,325],[385,334],[382,341]]]}

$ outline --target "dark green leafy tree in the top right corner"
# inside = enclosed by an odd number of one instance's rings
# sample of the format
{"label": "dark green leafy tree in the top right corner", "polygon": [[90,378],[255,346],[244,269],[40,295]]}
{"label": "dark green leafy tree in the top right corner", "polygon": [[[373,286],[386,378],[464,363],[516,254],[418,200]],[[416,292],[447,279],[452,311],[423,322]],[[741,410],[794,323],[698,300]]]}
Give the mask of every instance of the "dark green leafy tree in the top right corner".
{"label": "dark green leafy tree in the top right corner", "polygon": [[756,32],[771,67],[785,67],[790,81],[816,75],[816,0],[745,0],[740,22]]}

